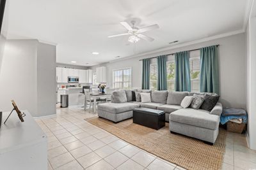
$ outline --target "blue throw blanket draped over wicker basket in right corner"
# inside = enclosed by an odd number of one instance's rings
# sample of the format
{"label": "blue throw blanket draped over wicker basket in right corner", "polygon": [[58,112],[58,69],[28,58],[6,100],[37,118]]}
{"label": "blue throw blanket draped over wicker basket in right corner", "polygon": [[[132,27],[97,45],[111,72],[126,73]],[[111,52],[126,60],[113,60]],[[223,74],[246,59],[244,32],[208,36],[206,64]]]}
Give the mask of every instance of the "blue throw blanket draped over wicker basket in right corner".
{"label": "blue throw blanket draped over wicker basket in right corner", "polygon": [[[239,114],[236,114],[236,113],[239,113]],[[244,124],[247,123],[247,113],[245,110],[226,108],[226,109],[223,109],[223,113],[221,114],[221,117],[220,117],[220,123],[224,125],[231,119],[239,119],[239,118],[242,118]]]}

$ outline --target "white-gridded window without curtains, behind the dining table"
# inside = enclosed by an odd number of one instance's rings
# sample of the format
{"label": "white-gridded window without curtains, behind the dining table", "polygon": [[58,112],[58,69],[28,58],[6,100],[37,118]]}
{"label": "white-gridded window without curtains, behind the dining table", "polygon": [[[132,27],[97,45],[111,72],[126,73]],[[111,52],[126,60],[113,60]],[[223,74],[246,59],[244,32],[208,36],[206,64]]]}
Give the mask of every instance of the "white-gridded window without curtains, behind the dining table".
{"label": "white-gridded window without curtains, behind the dining table", "polygon": [[116,69],[113,71],[113,88],[129,89],[132,87],[132,69]]}

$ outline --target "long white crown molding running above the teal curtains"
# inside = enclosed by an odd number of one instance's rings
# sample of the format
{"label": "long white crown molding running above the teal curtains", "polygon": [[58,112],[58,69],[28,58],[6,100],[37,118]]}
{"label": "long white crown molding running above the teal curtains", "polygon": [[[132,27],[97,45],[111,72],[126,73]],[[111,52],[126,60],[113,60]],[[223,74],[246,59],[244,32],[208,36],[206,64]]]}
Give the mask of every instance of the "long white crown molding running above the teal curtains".
{"label": "long white crown molding running above the teal curtains", "polygon": [[130,55],[130,56],[124,57],[122,59],[111,60],[111,61],[109,61],[109,63],[118,62],[118,61],[127,60],[127,59],[132,59],[132,58],[136,58],[136,57],[142,57],[144,55],[152,55],[152,54],[158,53],[158,52],[165,52],[165,51],[167,52],[168,50],[173,50],[173,49],[176,49],[176,48],[189,46],[189,45],[195,45],[195,44],[198,44],[198,43],[204,43],[206,41],[211,41],[211,40],[214,40],[214,39],[225,38],[227,36],[233,36],[233,35],[236,35],[236,34],[241,34],[243,32],[245,32],[244,29],[239,29],[237,31],[232,31],[232,32],[226,32],[224,34],[218,34],[216,36],[210,36],[210,37],[207,37],[207,38],[197,39],[195,41],[189,41],[189,42],[186,42],[186,43],[180,43],[180,44],[173,45],[173,46],[159,48],[157,50],[152,50],[152,51],[149,51],[149,52],[138,53],[136,55]]}

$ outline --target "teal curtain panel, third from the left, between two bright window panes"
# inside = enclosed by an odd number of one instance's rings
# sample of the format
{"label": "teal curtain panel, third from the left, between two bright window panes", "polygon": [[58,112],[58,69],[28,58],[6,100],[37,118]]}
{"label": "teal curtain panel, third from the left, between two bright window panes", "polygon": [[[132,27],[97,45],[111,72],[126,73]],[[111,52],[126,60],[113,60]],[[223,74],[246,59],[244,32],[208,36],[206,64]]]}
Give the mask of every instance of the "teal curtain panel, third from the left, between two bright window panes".
{"label": "teal curtain panel, third from the left, between two bright window panes", "polygon": [[175,53],[175,91],[191,91],[189,52]]}

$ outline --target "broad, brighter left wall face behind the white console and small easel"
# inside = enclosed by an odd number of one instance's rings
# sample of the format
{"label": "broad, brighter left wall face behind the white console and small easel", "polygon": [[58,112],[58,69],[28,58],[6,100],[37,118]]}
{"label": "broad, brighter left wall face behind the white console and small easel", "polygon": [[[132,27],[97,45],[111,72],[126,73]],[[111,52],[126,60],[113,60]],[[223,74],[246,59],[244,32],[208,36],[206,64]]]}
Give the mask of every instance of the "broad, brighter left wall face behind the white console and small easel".
{"label": "broad, brighter left wall face behind the white console and small easel", "polygon": [[11,100],[20,110],[36,114],[36,40],[6,40],[0,72],[0,110],[12,110]]}

